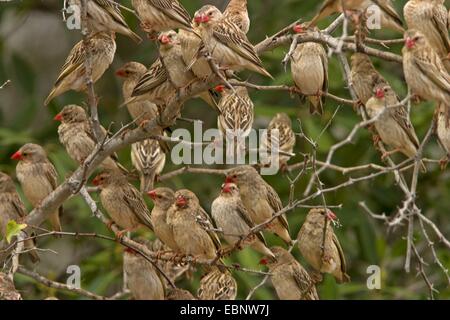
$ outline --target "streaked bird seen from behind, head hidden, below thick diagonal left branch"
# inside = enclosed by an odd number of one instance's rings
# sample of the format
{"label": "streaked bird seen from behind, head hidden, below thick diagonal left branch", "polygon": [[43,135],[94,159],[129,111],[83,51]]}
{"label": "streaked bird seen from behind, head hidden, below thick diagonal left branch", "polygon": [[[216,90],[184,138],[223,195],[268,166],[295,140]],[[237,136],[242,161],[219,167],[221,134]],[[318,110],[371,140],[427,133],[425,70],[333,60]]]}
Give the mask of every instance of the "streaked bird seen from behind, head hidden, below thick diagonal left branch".
{"label": "streaked bird seen from behind, head hidden, below thick diagonal left branch", "polygon": [[158,140],[147,139],[131,145],[131,162],[141,180],[141,192],[153,189],[156,177],[163,171],[166,154]]}

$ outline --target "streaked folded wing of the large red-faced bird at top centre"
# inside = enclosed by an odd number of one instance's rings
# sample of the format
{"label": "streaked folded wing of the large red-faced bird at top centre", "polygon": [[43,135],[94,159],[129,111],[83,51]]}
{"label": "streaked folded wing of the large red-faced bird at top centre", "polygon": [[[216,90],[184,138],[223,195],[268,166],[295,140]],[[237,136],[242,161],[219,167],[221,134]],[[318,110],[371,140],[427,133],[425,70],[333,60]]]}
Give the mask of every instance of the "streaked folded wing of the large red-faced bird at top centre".
{"label": "streaked folded wing of the large red-faced bird at top centre", "polygon": [[248,41],[247,36],[236,25],[223,20],[213,27],[213,35],[217,41],[227,46],[242,58],[262,67],[261,59],[256,54],[255,48]]}

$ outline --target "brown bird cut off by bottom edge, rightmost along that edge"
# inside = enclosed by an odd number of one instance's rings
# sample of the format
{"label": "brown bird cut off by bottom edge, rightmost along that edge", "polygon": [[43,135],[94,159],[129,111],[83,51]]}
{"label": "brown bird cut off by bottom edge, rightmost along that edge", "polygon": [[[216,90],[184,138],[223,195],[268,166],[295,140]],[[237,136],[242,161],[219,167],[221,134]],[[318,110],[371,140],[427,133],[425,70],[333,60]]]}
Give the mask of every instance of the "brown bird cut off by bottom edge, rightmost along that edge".
{"label": "brown bird cut off by bottom edge, rightmost along that edge", "polygon": [[309,273],[287,250],[272,247],[276,259],[262,259],[270,270],[270,279],[280,300],[319,300]]}

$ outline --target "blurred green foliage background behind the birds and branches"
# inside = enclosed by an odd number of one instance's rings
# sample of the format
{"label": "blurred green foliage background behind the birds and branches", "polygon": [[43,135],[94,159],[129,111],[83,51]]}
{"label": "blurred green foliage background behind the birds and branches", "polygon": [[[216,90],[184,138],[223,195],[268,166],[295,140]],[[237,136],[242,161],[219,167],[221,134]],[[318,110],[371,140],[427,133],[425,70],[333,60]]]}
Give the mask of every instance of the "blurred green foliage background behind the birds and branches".
{"label": "blurred green foliage background behind the birds and branches", "polygon": [[[181,1],[187,10],[193,14],[201,5],[207,1],[190,0]],[[404,5],[405,0],[395,1],[398,12]],[[223,5],[226,1],[215,1]],[[130,1],[123,1],[124,5],[130,6]],[[26,28],[28,15],[36,12],[44,12],[60,18],[60,1],[12,1],[0,4],[0,21],[12,12],[17,19],[22,19],[23,24],[12,26],[8,33],[0,35],[0,82],[11,79],[11,84],[0,91],[0,170],[14,176],[15,164],[9,159],[18,147],[26,142],[36,142],[42,144],[55,164],[61,180],[70,174],[76,166],[67,156],[61,147],[57,137],[57,124],[51,119],[53,115],[64,105],[69,103],[82,104],[85,97],[79,93],[67,93],[54,100],[48,109],[43,107],[43,100],[50,90],[52,81],[44,77],[42,68],[37,71],[35,65],[26,59],[22,52],[14,52],[8,47],[8,39],[20,28]],[[304,0],[281,0],[281,1],[249,1],[249,11],[252,20],[249,39],[257,43],[264,39],[266,35],[271,35],[295,21],[298,18],[307,20],[311,18],[319,6],[318,1]],[[134,30],[139,26],[136,19],[126,13],[127,20]],[[22,21],[21,20],[21,21]],[[320,23],[326,26],[332,18]],[[60,22],[60,27],[64,29],[64,23]],[[4,30],[4,29],[3,29]],[[140,32],[140,31],[139,31]],[[65,32],[70,43],[75,43],[80,39],[77,31]],[[339,34],[339,31],[338,33]],[[371,34],[372,37],[379,38],[399,38],[400,34],[390,31],[380,31]],[[118,50],[112,67],[105,73],[103,78],[96,84],[96,92],[101,97],[100,116],[103,125],[108,126],[114,122],[113,129],[118,129],[121,123],[129,121],[129,117],[124,108],[118,109],[122,102],[121,82],[114,76],[114,70],[121,64],[129,60],[137,60],[146,65],[150,65],[156,56],[156,46],[145,41],[137,46],[130,39],[121,35],[117,37]],[[54,48],[42,47],[42,54],[49,53]],[[391,48],[380,48],[400,53],[401,45],[393,45]],[[264,65],[269,72],[275,76],[272,84],[292,84],[289,72],[285,72],[280,63],[287,47],[278,48],[272,52],[262,55]],[[8,57],[8,58],[7,58]],[[53,64],[44,66],[44,69],[52,75],[56,75],[64,58],[54,61]],[[394,89],[400,96],[406,94],[406,85],[403,79],[401,65],[373,59],[378,70],[390,81]],[[330,59],[330,92],[335,95],[349,98],[348,90],[343,81],[342,69],[335,57]],[[242,73],[242,78],[249,77],[252,82],[270,84],[270,81],[257,75]],[[43,83],[45,81],[45,83]],[[42,89],[44,88],[44,90]],[[8,99],[4,98],[8,95]],[[291,98],[283,92],[257,92],[252,91],[251,97],[255,103],[256,123],[261,125],[268,123],[270,118],[277,112],[288,113],[293,120],[301,119],[305,133],[318,143],[318,158],[323,160],[327,155],[330,146],[336,141],[342,140],[350,132],[353,126],[358,123],[359,117],[349,106],[339,106],[334,101],[328,101],[325,107],[325,114],[322,118],[313,117],[309,114],[307,107],[302,105],[297,98]],[[8,101],[10,101],[8,103]],[[11,101],[20,101],[20,104],[12,104]],[[331,122],[328,130],[322,133],[323,128],[332,118],[338,109],[335,118]],[[415,105],[412,110],[412,120],[416,126],[419,137],[423,137],[428,128],[433,108],[431,103]],[[197,100],[190,101],[183,110],[183,116],[201,119],[206,127],[216,125],[216,114],[211,111],[203,102]],[[293,121],[294,130],[299,132],[297,121]],[[187,126],[189,127],[189,126]],[[311,152],[310,145],[303,139],[298,139],[297,152]],[[433,141],[426,149],[427,157],[439,159],[442,151]],[[121,162],[131,168],[129,148],[122,150],[119,154]],[[403,160],[401,156],[395,156],[397,161]],[[300,161],[301,157],[295,157],[290,163]],[[333,160],[333,163],[340,166],[355,166],[366,163],[381,164],[380,154],[374,149],[369,132],[360,130],[353,143],[340,149]],[[166,165],[165,172],[176,169],[170,161]],[[349,174],[342,174],[327,170],[322,176],[324,187],[331,187],[347,181],[349,177],[357,177],[368,174],[368,171]],[[411,172],[406,172],[405,176],[410,179]],[[420,176],[417,203],[422,208],[423,214],[432,219],[441,231],[450,237],[450,182],[449,172],[440,171],[438,166],[429,167],[426,174]],[[308,182],[309,174],[301,179],[295,186],[296,197],[302,197]],[[287,203],[289,195],[288,179],[278,174],[267,177],[267,181],[274,186],[280,194],[283,203]],[[172,188],[186,187],[198,194],[203,206],[207,211],[210,204],[217,196],[222,181],[216,176],[204,176],[184,174],[177,176],[171,181],[164,182],[164,185]],[[18,187],[20,191],[20,188]],[[392,214],[401,206],[404,200],[403,193],[395,185],[392,175],[382,175],[376,179],[364,181],[345,189],[340,189],[333,193],[326,194],[329,205],[342,204],[342,209],[336,210],[339,216],[341,227],[336,229],[336,233],[346,253],[349,274],[352,282],[345,285],[337,285],[335,281],[326,276],[324,282],[319,285],[319,293],[322,299],[425,299],[428,297],[428,289],[420,276],[416,274],[417,261],[413,259],[412,271],[407,274],[403,270],[405,257],[405,226],[387,230],[385,226],[368,217],[359,206],[360,201],[365,201],[367,205],[377,213],[385,212]],[[320,204],[320,199],[315,199],[309,204]],[[151,204],[149,203],[149,206]],[[29,203],[28,208],[31,209]],[[65,203],[65,215],[62,219],[63,228],[67,231],[96,232],[110,234],[107,228],[96,220],[85,203],[77,196]],[[289,213],[288,219],[291,226],[291,234],[295,236],[304,220],[307,209],[298,209]],[[438,239],[429,230],[429,234],[435,241],[437,253],[443,264],[450,266],[450,253],[444,249]],[[150,234],[144,234],[151,237]],[[271,235],[267,235],[270,244],[280,244],[279,240]],[[440,291],[439,298],[450,298],[449,283],[445,275],[433,263],[433,257],[429,248],[424,242],[421,232],[416,231],[415,240],[424,258],[429,262],[425,272],[433,281],[435,288]],[[67,265],[78,264],[82,270],[82,286],[100,295],[111,295],[120,290],[122,285],[122,248],[115,243],[93,240],[86,238],[68,239],[41,239],[39,247],[52,248],[59,252],[58,255],[52,252],[42,253],[44,262],[38,270],[49,278],[65,281]],[[294,255],[304,262],[297,249]],[[45,260],[50,261],[47,262]],[[239,262],[247,268],[259,269],[259,254],[246,249],[235,253],[230,261]],[[366,279],[368,274],[366,269],[369,265],[376,264],[382,270],[382,289],[368,290]],[[306,266],[307,264],[304,263]],[[239,283],[239,298],[245,298],[249,290],[260,280],[261,276],[234,272]],[[192,280],[181,280],[178,285],[195,292],[198,286],[200,271]],[[55,295],[58,298],[80,299],[73,294],[66,292],[56,292],[54,289],[46,288],[42,285],[30,281],[25,276],[17,275],[17,287],[27,299],[45,298]],[[256,299],[276,299],[276,294],[270,282],[260,288],[254,295]]]}

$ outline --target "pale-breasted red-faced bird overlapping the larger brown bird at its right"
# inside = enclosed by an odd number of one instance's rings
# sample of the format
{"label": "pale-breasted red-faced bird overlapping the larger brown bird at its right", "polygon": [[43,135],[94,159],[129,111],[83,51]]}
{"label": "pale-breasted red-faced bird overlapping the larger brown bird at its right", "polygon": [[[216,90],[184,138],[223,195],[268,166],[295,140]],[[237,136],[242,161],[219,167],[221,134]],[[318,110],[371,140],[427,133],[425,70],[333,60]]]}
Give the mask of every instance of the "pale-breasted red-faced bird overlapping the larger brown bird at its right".
{"label": "pale-breasted red-faced bird overlapping the larger brown bird at its right", "polygon": [[[220,195],[211,205],[211,216],[216,222],[216,226],[224,232],[225,240],[233,247],[242,237],[249,235],[250,229],[255,226],[242,203],[239,189],[234,183],[225,183],[222,186]],[[242,245],[250,245],[263,255],[274,257],[267,248],[262,232],[249,235],[242,241]]]}

